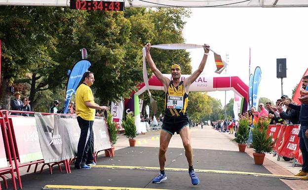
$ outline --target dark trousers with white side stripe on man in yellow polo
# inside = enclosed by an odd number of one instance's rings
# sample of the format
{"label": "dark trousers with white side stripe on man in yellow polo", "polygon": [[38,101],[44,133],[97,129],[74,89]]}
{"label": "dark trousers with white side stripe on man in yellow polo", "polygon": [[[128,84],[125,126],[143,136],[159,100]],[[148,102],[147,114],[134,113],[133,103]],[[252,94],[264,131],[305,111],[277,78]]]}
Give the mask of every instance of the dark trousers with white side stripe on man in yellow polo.
{"label": "dark trousers with white side stripe on man in yellow polo", "polygon": [[94,159],[94,133],[92,128],[94,121],[84,120],[80,116],[77,117],[77,121],[80,127],[80,137],[75,167],[81,168],[85,164],[92,163]]}

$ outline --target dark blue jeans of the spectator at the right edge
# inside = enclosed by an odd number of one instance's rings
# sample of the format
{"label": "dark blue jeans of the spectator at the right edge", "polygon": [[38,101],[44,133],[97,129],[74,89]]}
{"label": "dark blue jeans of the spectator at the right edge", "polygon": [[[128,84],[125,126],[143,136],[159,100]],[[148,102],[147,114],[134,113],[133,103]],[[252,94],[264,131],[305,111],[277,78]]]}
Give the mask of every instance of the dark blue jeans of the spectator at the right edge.
{"label": "dark blue jeans of the spectator at the right edge", "polygon": [[308,172],[308,138],[305,136],[305,132],[308,130],[308,126],[301,126],[301,130],[299,133],[300,137],[300,150],[303,155],[303,167],[302,170],[304,172]]}

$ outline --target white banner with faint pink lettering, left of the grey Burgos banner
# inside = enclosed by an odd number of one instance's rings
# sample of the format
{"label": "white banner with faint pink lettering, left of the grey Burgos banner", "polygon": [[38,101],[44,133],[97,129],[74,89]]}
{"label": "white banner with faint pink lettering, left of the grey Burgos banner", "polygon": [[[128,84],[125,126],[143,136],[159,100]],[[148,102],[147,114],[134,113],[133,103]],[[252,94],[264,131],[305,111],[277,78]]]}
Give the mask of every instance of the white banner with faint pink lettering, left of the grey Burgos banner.
{"label": "white banner with faint pink lettering, left of the grey Burgos banner", "polygon": [[35,117],[12,117],[21,163],[43,159]]}

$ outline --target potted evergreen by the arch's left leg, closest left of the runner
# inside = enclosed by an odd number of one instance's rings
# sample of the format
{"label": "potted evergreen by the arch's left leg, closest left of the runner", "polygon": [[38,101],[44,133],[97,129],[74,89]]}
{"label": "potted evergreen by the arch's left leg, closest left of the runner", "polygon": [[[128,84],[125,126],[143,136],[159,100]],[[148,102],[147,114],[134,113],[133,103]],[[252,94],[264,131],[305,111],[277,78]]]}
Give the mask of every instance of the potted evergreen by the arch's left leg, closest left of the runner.
{"label": "potted evergreen by the arch's left leg, closest left of the runner", "polygon": [[136,145],[136,125],[135,125],[135,116],[133,113],[129,113],[126,115],[125,121],[122,120],[122,126],[124,128],[124,135],[128,138],[129,146],[135,147]]}

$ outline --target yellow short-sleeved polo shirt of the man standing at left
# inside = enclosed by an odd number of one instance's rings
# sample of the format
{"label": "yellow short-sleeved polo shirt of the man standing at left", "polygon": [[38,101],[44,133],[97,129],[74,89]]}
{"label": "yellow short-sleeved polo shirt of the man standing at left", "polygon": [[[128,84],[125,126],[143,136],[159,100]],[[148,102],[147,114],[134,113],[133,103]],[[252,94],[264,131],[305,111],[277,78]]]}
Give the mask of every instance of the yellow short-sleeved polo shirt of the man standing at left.
{"label": "yellow short-sleeved polo shirt of the man standing at left", "polygon": [[93,102],[94,96],[89,86],[82,83],[76,90],[76,114],[84,120],[94,121],[95,109],[88,108],[84,102]]}

